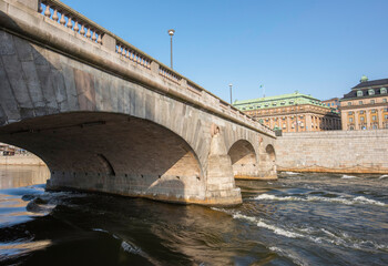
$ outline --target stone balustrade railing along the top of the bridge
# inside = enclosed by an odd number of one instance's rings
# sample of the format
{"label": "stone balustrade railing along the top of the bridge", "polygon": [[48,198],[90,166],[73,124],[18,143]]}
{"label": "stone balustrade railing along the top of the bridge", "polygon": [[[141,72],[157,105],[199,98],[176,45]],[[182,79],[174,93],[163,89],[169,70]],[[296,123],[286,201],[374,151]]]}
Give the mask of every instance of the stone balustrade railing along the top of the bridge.
{"label": "stone balustrade railing along the top of the bridge", "polygon": [[212,109],[216,109],[218,113],[243,121],[262,132],[274,135],[273,131],[254,120],[249,115],[217,98],[213,93],[206,91],[195,82],[184,78],[173,69],[164,65],[153,59],[145,52],[133,47],[125,40],[116,37],[112,32],[102,28],[98,23],[88,19],[83,14],[65,6],[59,0],[28,0],[38,1],[38,12],[52,20],[63,28],[75,32],[83,37],[86,41],[101,45],[120,55],[121,59],[127,60],[130,63],[141,66],[144,71],[157,73],[165,81],[172,82],[180,90],[185,90],[192,96],[198,98],[202,103],[207,103]]}

